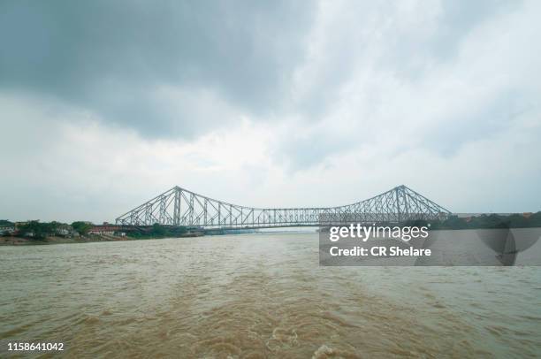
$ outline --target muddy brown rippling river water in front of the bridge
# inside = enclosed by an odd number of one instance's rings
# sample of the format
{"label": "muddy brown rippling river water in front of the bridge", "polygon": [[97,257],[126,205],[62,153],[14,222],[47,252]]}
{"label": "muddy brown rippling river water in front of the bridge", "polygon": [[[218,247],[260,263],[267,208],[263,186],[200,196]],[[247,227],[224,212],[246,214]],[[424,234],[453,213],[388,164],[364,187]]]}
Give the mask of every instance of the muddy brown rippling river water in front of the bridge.
{"label": "muddy brown rippling river water in front of the bridge", "polygon": [[321,267],[316,233],[2,247],[0,283],[0,357],[541,356],[540,267]]}

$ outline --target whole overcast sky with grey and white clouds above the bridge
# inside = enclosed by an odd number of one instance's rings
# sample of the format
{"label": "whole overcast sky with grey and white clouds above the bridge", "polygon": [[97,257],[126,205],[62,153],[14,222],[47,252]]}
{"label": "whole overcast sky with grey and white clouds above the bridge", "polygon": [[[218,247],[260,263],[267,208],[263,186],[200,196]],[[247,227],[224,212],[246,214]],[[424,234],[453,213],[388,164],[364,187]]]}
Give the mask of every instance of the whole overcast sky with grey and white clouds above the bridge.
{"label": "whole overcast sky with grey and white clouds above the bridge", "polygon": [[539,1],[0,2],[0,219],[178,185],[541,210]]}

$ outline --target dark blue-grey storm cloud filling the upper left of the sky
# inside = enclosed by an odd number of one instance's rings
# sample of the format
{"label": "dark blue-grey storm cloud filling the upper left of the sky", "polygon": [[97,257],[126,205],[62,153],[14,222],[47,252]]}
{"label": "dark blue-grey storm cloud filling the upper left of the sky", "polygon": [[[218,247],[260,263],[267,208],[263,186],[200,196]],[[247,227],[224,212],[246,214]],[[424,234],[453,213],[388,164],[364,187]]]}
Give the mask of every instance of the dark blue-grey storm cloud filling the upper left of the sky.
{"label": "dark blue-grey storm cloud filling the upper left of the sky", "polygon": [[[141,134],[187,136],[225,120],[190,111],[216,98],[275,111],[312,12],[288,1],[4,1],[0,89],[47,95]],[[180,95],[156,95],[163,88]],[[185,103],[193,92],[214,95]]]}

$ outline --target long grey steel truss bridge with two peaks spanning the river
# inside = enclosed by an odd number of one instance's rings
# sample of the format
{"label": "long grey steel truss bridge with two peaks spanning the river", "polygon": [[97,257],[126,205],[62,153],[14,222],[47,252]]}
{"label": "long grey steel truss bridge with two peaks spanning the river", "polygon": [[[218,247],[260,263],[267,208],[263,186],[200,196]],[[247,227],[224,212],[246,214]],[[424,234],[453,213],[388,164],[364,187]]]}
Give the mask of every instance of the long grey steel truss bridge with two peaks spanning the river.
{"label": "long grey steel truss bridge with two peaks spanning the river", "polygon": [[[117,225],[171,225],[204,228],[269,228],[358,222],[400,223],[445,219],[451,212],[406,187],[339,207],[253,208],[218,201],[181,187],[156,196],[117,218]],[[342,220],[340,220],[342,218]],[[347,218],[347,219],[346,219]]]}

